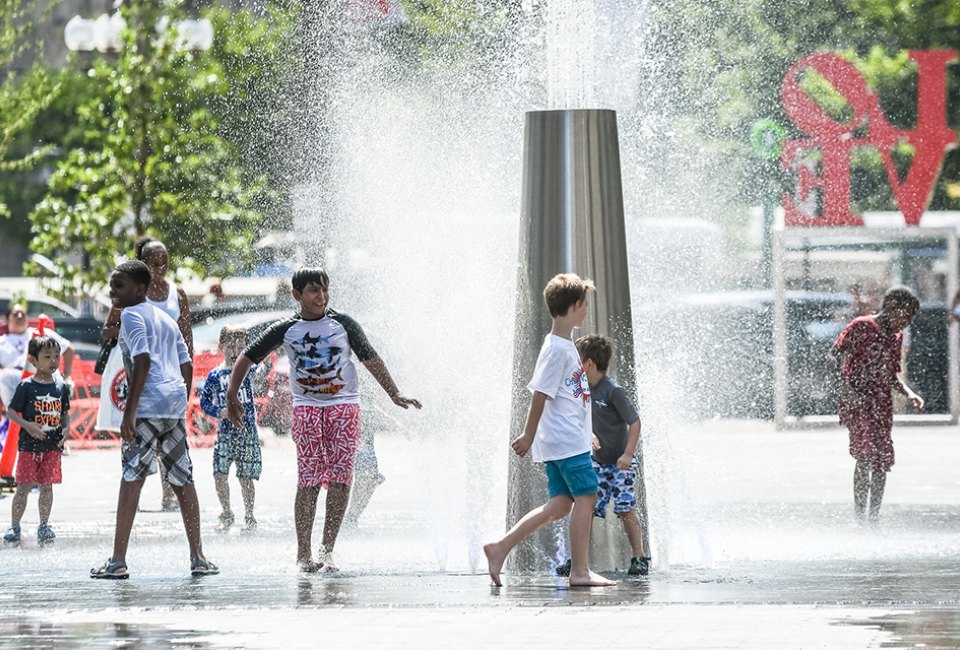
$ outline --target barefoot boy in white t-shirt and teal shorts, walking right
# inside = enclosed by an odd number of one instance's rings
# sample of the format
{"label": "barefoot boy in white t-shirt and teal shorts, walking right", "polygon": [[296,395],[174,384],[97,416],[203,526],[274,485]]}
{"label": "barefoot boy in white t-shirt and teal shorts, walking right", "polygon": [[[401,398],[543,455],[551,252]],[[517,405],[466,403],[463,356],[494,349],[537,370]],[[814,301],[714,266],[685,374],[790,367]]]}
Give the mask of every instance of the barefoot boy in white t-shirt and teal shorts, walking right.
{"label": "barefoot boy in white t-shirt and teal shorts, walking right", "polygon": [[[597,501],[597,475],[590,461],[592,427],[590,386],[573,344],[573,330],[587,315],[587,292],[593,282],[561,273],[543,290],[553,329],[543,341],[533,379],[533,393],[523,435],[511,443],[518,456],[533,449],[533,460],[547,471],[547,502],[528,512],[500,540],[485,544],[493,584],[517,544],[541,527],[570,515],[570,586],[617,584],[590,570],[590,527]],[[572,510],[571,510],[572,509]]]}

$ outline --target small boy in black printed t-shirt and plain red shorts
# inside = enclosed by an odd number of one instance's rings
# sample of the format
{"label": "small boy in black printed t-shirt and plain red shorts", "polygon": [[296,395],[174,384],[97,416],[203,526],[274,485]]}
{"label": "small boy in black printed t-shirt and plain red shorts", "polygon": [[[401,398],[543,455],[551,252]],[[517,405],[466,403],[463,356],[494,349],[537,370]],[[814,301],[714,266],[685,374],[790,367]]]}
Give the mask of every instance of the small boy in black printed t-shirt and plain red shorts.
{"label": "small boy in black printed t-shirt and plain red shorts", "polygon": [[52,544],[56,535],[50,528],[53,486],[62,480],[63,432],[69,428],[70,388],[59,377],[60,344],[49,336],[36,336],[27,343],[27,359],[36,373],[17,386],[7,408],[11,422],[20,426],[17,450],[17,491],[13,495],[10,530],[3,536],[8,544],[20,542],[20,520],[27,509],[27,495],[40,488],[40,525],[37,542]]}

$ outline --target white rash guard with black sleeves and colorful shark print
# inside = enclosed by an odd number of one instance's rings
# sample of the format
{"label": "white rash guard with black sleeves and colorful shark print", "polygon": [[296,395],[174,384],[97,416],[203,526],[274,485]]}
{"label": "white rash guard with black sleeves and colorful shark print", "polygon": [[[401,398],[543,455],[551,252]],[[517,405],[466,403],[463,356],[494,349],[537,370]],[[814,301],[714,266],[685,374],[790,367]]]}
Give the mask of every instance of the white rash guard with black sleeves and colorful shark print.
{"label": "white rash guard with black sleeves and colorful shark print", "polygon": [[268,327],[243,354],[260,363],[281,346],[290,360],[294,406],[360,402],[353,355],[362,363],[376,357],[377,351],[357,321],[332,309],[317,320],[295,315]]}

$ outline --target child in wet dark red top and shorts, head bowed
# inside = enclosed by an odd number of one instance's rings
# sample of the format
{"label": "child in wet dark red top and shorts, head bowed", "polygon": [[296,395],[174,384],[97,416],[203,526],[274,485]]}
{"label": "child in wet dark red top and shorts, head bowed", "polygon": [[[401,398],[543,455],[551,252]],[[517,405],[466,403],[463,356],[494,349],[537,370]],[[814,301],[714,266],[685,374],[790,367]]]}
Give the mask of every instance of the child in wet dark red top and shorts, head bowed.
{"label": "child in wet dark red top and shorts, head bowed", "polygon": [[854,318],[837,338],[833,354],[840,366],[840,424],[850,431],[853,503],[857,518],[877,523],[893,467],[893,393],[906,395],[918,411],[923,399],[900,378],[903,329],[920,309],[917,296],[894,287],[883,296],[879,313]]}

